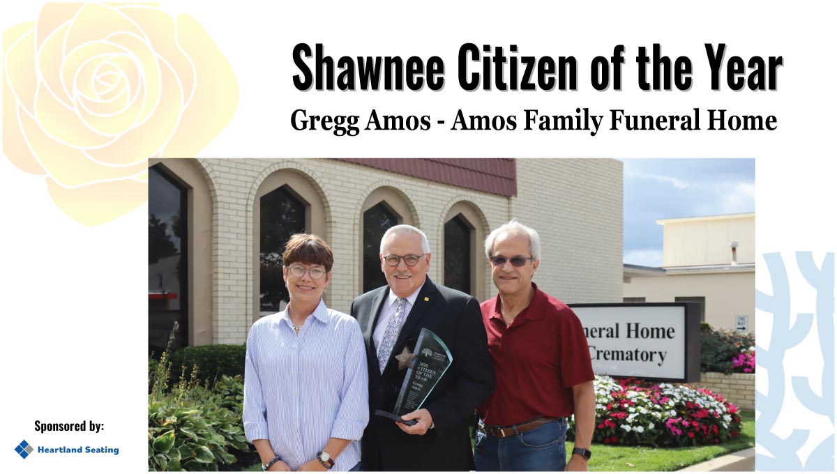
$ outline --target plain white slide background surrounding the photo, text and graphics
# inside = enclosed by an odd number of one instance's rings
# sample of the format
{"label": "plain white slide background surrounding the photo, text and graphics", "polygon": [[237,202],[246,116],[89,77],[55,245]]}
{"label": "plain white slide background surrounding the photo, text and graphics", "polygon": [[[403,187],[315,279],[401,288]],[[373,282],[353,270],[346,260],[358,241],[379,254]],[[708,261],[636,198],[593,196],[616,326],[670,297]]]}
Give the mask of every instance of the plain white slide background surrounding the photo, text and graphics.
{"label": "plain white slide background surrounding the photo, text and graphics", "polygon": [[[32,21],[41,3],[3,3],[0,27]],[[197,19],[226,55],[239,80],[233,120],[203,157],[755,157],[757,254],[812,250],[818,262],[835,250],[834,28],[832,3],[252,3],[162,2],[167,13]],[[291,50],[325,43],[326,54],[438,55],[446,65],[443,91],[299,92]],[[573,55],[577,92],[465,93],[456,81],[460,44],[518,45],[520,54]],[[690,91],[642,92],[633,61],[639,46],[662,43],[670,57],[688,56]],[[709,87],[704,43],[727,43],[748,58],[782,55],[778,91],[732,92]],[[595,91],[587,67],[624,44],[623,90]],[[773,132],[368,132],[336,137],[296,132],[290,112],[431,115],[452,124],[468,114],[547,114],[588,107],[604,114],[684,114],[693,107],[776,115]],[[9,368],[3,466],[13,471],[146,471],[146,215],[145,206],[99,227],[66,217],[49,199],[42,178],[0,160],[3,203],[3,316],[0,344]],[[789,271],[793,313],[813,312],[814,297]],[[770,276],[757,261],[757,288]],[[769,314],[757,313],[759,344],[771,337]],[[819,360],[819,369],[818,369]],[[817,377],[819,342],[811,334],[787,354],[786,370]],[[765,388],[763,375],[759,386]],[[814,390],[833,391],[834,387]],[[804,450],[833,433],[788,392],[775,431],[816,430]],[[72,436],[74,444],[119,446],[119,456],[32,456],[13,446],[61,444],[62,434],[34,433],[34,420],[105,423],[100,435]],[[805,451],[801,451],[804,453]]]}

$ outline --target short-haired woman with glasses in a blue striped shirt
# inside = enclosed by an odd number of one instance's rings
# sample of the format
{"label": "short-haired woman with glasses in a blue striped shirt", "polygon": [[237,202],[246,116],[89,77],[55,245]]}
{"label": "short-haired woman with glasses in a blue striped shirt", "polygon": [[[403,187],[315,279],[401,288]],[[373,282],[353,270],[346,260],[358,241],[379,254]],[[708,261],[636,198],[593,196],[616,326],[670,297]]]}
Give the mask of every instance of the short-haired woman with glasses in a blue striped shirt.
{"label": "short-haired woman with glasses in a blue striped shirt", "polygon": [[247,338],[244,433],[264,471],[357,471],[369,420],[360,326],[322,301],[334,257],[320,237],[290,237],[282,262],[290,302]]}

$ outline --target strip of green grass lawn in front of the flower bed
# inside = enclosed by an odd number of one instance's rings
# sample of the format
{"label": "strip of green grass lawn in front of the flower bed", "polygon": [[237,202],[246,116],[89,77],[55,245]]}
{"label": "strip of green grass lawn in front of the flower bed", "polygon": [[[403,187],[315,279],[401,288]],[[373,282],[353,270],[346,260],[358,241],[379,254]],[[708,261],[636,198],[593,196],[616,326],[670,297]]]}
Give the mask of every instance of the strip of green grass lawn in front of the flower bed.
{"label": "strip of green grass lawn in front of the flower bed", "polygon": [[[677,471],[698,462],[756,446],[756,415],[742,411],[742,434],[723,445],[681,448],[593,445],[590,471]],[[573,444],[567,443],[567,452]]]}

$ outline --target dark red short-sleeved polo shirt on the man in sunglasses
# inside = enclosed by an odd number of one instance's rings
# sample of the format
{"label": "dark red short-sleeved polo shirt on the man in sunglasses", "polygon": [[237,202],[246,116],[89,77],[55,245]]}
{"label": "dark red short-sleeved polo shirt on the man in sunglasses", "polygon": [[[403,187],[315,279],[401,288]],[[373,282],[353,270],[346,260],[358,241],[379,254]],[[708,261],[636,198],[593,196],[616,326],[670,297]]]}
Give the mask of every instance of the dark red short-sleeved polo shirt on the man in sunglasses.
{"label": "dark red short-sleeved polo shirt on the man in sunglasses", "polygon": [[584,329],[566,304],[535,289],[528,308],[506,327],[500,296],[480,305],[494,362],[494,393],[477,412],[486,425],[573,415],[573,385],[593,380]]}

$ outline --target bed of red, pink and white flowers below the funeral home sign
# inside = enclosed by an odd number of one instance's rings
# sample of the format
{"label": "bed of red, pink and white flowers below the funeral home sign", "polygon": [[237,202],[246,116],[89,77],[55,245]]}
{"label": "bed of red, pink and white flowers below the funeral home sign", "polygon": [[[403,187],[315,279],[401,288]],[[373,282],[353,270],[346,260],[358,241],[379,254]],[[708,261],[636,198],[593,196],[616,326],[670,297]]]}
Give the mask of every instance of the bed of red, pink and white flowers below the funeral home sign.
{"label": "bed of red, pink and white flowers below the funeral home sign", "polygon": [[654,385],[634,379],[618,381],[608,376],[597,376],[594,385],[594,442],[703,446],[741,434],[736,406],[710,390],[689,385]]}

